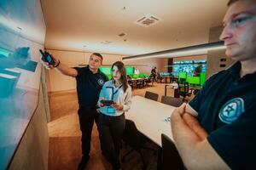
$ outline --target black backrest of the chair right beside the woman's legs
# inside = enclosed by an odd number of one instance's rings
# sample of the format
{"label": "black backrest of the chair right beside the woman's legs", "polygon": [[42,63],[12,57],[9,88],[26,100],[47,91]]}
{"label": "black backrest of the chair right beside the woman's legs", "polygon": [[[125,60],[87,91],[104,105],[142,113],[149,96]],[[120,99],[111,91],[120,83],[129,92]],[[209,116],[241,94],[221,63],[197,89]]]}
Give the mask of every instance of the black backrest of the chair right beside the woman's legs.
{"label": "black backrest of the chair right beside the woman's legs", "polygon": [[131,148],[137,150],[141,147],[142,138],[141,133],[138,132],[135,123],[131,120],[125,120],[125,131],[123,133],[123,140],[129,144]]}

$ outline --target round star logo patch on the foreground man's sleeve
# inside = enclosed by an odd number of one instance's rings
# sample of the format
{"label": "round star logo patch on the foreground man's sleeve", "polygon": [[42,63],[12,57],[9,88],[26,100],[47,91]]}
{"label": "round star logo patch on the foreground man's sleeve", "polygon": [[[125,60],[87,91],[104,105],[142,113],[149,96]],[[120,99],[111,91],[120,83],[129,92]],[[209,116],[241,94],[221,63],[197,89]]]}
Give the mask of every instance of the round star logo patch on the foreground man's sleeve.
{"label": "round star logo patch on the foreground man's sleeve", "polygon": [[218,117],[222,122],[230,124],[236,121],[244,112],[244,102],[241,98],[230,99],[220,109]]}

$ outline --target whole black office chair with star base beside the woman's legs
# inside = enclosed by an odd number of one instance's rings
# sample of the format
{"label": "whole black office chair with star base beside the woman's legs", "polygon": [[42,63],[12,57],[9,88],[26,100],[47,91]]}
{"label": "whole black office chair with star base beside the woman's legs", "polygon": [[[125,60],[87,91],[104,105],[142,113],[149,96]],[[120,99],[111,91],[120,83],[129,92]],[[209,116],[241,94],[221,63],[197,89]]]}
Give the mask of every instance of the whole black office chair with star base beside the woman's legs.
{"label": "whole black office chair with star base beside the woman's legs", "polygon": [[[137,130],[135,123],[128,119],[125,120],[125,131],[123,134],[123,140],[125,144],[131,146],[132,150],[128,151],[125,154],[125,156],[122,157],[121,161],[124,162],[125,157],[129,156],[132,153],[132,151],[136,150],[142,158],[143,169],[146,169],[146,163],[144,160],[142,149],[153,150],[154,152],[155,150],[152,148],[148,148],[147,146],[144,145],[147,142],[146,137],[144,137],[144,135]],[[156,153],[154,153],[154,155],[155,154]]]}

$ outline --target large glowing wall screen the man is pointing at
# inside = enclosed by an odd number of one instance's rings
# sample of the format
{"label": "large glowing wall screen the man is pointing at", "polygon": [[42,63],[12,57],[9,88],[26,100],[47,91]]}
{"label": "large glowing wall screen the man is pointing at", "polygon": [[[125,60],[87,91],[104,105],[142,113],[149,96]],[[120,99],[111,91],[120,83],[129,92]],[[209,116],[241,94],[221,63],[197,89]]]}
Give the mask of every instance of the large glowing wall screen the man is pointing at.
{"label": "large glowing wall screen the man is pointing at", "polygon": [[0,169],[8,167],[37,108],[44,37],[39,0],[0,1]]}

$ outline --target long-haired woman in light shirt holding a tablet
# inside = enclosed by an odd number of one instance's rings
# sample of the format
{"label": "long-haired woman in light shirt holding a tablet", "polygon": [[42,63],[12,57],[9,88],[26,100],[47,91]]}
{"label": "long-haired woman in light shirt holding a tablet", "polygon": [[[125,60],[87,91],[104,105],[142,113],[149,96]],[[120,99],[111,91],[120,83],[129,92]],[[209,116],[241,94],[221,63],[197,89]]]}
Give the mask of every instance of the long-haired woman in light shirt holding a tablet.
{"label": "long-haired woman in light shirt holding a tablet", "polygon": [[131,87],[121,61],[113,63],[112,76],[113,80],[105,82],[98,101],[99,133],[103,156],[113,169],[119,169],[119,144],[125,130],[125,111],[131,106]]}

